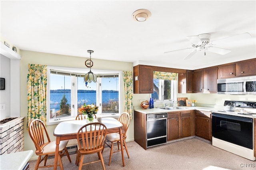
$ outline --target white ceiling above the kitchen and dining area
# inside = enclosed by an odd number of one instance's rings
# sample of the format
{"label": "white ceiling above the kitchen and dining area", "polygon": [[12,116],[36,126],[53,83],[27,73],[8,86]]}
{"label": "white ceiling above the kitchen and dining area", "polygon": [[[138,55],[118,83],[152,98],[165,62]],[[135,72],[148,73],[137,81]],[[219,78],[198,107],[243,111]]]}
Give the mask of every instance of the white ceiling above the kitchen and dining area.
{"label": "white ceiling above the kitchen and dining area", "polygon": [[[19,49],[171,68],[197,69],[256,57],[256,1],[3,1],[1,33]],[[144,22],[132,19],[150,10]],[[191,50],[187,36],[210,33],[211,41],[248,32],[248,39],[216,47],[226,55]],[[86,59],[85,59],[86,60]]]}

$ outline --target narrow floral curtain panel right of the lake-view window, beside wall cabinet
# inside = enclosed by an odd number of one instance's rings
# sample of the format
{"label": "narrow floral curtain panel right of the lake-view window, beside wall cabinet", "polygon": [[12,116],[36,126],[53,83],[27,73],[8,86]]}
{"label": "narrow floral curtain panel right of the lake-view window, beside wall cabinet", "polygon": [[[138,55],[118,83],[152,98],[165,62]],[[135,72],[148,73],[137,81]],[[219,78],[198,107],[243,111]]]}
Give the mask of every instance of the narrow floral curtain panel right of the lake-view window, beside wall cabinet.
{"label": "narrow floral curtain panel right of the lake-view window, beside wall cabinet", "polygon": [[132,119],[132,88],[133,88],[133,79],[132,71],[123,71],[123,81],[124,81],[124,111],[129,113],[130,119]]}

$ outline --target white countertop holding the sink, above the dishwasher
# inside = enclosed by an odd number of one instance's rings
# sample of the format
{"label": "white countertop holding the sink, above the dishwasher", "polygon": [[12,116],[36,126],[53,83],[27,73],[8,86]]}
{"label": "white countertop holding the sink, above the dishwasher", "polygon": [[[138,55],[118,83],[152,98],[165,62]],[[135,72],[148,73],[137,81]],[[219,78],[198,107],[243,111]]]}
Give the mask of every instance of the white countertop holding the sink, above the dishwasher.
{"label": "white countertop holding the sink, above the dishwasher", "polygon": [[160,109],[160,108],[153,108],[153,109],[142,109],[142,108],[134,108],[134,111],[139,111],[145,114],[152,114],[152,113],[165,113],[165,112],[172,112],[172,111],[184,111],[184,110],[202,110],[202,111],[212,111],[216,110],[216,108],[212,107],[189,107],[189,106],[179,106],[182,109]]}

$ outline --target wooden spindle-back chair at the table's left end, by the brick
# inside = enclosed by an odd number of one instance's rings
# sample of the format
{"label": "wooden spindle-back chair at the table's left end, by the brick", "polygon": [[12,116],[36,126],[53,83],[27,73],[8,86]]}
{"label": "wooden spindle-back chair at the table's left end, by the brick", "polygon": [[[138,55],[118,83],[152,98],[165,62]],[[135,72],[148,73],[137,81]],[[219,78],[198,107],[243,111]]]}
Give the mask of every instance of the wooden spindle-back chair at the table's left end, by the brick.
{"label": "wooden spindle-back chair at the table's left end, by the brick", "polygon": [[[35,170],[37,170],[38,168],[53,167],[54,165],[46,165],[46,161],[47,161],[48,155],[55,154],[56,141],[50,141],[50,137],[48,135],[44,122],[41,121],[40,119],[32,120],[28,126],[28,133],[36,147],[36,151],[35,151],[36,155],[38,155]],[[68,140],[60,141],[59,153],[58,153],[58,161],[59,161],[58,166],[60,166],[61,170],[63,170],[61,158],[64,154],[68,156],[68,160],[69,162],[71,162],[70,156],[68,154],[68,150],[66,148],[67,144],[68,144]],[[44,157],[42,158],[42,156]],[[44,160],[44,166],[39,166],[39,164],[43,160]]]}

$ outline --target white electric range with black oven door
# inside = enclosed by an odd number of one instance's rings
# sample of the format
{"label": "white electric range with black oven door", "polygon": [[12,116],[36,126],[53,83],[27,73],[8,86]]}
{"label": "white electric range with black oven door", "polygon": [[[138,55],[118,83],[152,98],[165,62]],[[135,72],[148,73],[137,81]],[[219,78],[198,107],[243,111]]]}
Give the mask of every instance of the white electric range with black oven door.
{"label": "white electric range with black oven door", "polygon": [[256,102],[225,101],[234,111],[212,111],[212,145],[255,160],[254,119]]}

